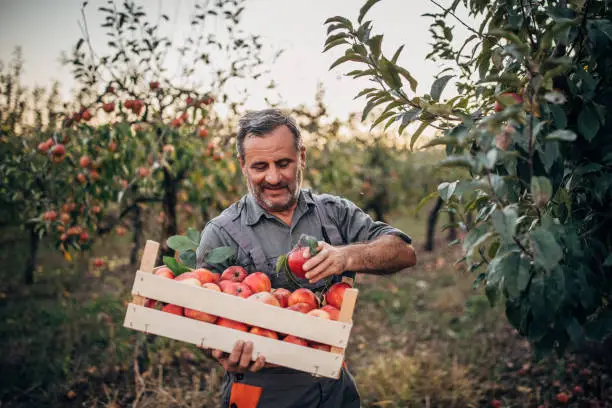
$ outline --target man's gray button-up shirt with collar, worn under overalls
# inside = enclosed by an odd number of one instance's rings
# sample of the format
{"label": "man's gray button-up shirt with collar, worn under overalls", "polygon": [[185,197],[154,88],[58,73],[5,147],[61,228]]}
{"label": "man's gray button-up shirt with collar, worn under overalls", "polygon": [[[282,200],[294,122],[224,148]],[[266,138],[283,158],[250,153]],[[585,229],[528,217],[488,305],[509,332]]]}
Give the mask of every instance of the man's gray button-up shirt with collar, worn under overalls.
{"label": "man's gray button-up shirt with collar, worn under overalls", "polygon": [[[367,242],[388,234],[399,236],[406,243],[412,242],[411,238],[402,231],[383,222],[374,221],[367,213],[345,198],[330,194],[323,194],[319,197],[323,201],[329,218],[338,227],[340,235],[347,244]],[[310,191],[300,191],[297,207],[293,214],[291,226],[289,226],[261,208],[254,197],[248,194],[244,197],[244,205],[233,204],[219,217],[230,216],[235,218],[239,216],[242,225],[252,230],[257,240],[255,245],[261,247],[267,259],[268,270],[262,272],[267,273],[272,280],[272,286],[278,288],[287,287],[287,281],[286,277],[278,276],[275,273],[277,258],[291,251],[302,234],[324,240],[322,221],[317,216],[314,207],[315,203]],[[209,221],[204,227],[200,245],[196,251],[197,266],[212,267],[212,269],[217,269],[217,272],[222,272],[221,269],[229,266],[229,264],[223,266],[207,265],[204,257],[211,249],[231,246],[237,252],[233,264],[241,265],[249,272],[254,272],[254,265],[249,254],[240,248],[231,234],[219,225],[219,217]]]}

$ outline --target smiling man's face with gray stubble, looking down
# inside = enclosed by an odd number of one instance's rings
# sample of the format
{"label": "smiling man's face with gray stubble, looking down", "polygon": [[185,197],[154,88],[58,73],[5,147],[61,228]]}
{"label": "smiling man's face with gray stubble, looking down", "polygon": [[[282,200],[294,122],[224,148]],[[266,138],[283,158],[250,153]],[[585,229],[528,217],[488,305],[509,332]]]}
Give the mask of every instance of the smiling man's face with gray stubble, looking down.
{"label": "smiling man's face with gray stubble, looking down", "polygon": [[244,139],[242,174],[249,192],[268,212],[289,210],[297,202],[302,184],[306,152],[295,149],[293,134],[280,126],[265,136]]}

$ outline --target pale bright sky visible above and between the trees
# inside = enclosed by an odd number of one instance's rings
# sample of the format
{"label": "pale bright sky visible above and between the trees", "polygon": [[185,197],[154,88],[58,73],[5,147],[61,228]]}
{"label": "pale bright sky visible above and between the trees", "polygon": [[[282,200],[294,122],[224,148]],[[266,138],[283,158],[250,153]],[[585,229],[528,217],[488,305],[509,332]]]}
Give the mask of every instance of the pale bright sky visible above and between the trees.
{"label": "pale bright sky visible above and between the trees", "polygon": [[[96,10],[105,4],[106,0],[89,1],[88,19],[94,47],[98,42],[104,43]],[[188,14],[194,1],[149,0],[139,4],[145,4],[151,15],[157,15],[159,10],[165,12],[176,30],[173,35],[182,35],[189,27]],[[332,116],[344,119],[349,113],[363,109],[364,99],[354,100],[354,96],[369,86],[367,80],[343,76],[355,69],[351,64],[329,71],[340,51],[322,53],[326,38],[323,22],[335,15],[355,20],[362,4],[360,0],[247,0],[242,28],[260,34],[267,46],[284,50],[270,67],[269,74],[284,107],[313,104],[317,84],[321,82],[325,89],[324,101]],[[13,49],[21,46],[25,85],[48,86],[58,80],[62,92],[68,94],[74,82],[59,57],[81,36],[80,5],[79,0],[0,0],[0,60],[7,61]],[[421,15],[434,10],[436,6],[429,0],[383,0],[367,16],[374,22],[373,31],[385,35],[383,52],[392,55],[397,47],[405,45],[399,63],[419,81],[417,92],[421,94],[429,91],[434,74],[440,70],[434,62],[425,59],[430,51],[430,19]],[[447,92],[452,92],[448,88]],[[254,81],[249,86],[246,108],[266,107],[264,91],[262,81]]]}

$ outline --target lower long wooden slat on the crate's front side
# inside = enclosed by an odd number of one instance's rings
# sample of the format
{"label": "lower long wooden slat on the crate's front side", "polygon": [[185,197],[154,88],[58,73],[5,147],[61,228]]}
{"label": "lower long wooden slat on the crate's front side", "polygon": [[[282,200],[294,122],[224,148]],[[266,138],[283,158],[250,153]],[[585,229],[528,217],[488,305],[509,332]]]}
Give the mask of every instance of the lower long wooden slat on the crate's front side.
{"label": "lower long wooden slat on the crate's front side", "polygon": [[289,366],[323,377],[338,378],[342,367],[342,354],[269,339],[132,303],[128,305],[125,326],[227,353],[232,351],[238,340],[252,341],[255,358],[262,354],[267,363]]}

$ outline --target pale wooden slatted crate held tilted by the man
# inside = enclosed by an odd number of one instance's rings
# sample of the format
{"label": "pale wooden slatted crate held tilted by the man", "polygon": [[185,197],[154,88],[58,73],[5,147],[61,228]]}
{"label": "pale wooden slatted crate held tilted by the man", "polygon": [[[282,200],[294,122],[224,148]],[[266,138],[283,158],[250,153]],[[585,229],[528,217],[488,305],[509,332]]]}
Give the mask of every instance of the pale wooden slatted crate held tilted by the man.
{"label": "pale wooden slatted crate held tilted by the man", "polygon": [[[147,241],[140,268],[134,278],[133,299],[127,306],[123,323],[125,327],[228,353],[236,341],[251,341],[254,359],[261,354],[267,363],[316,376],[339,378],[353,326],[357,289],[347,289],[344,292],[338,321],[322,319],[154,275],[152,272],[156,269],[154,264],[158,249],[157,242]],[[277,333],[292,334],[330,345],[331,351],[304,347],[147,308],[144,306],[145,298],[200,310]]]}

